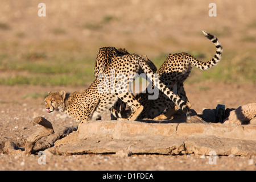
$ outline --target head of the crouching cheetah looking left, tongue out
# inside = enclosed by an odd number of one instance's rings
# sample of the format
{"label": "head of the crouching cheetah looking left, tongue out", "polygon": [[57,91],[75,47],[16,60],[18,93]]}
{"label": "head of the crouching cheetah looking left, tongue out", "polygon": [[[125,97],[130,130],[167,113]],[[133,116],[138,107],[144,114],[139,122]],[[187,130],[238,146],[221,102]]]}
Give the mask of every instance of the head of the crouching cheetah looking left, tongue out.
{"label": "head of the crouching cheetah looking left, tongue out", "polygon": [[64,90],[60,92],[49,92],[47,97],[44,99],[47,113],[51,113],[55,109],[59,109],[60,111],[63,111],[65,108],[65,104],[64,104],[65,96],[66,96],[66,92]]}

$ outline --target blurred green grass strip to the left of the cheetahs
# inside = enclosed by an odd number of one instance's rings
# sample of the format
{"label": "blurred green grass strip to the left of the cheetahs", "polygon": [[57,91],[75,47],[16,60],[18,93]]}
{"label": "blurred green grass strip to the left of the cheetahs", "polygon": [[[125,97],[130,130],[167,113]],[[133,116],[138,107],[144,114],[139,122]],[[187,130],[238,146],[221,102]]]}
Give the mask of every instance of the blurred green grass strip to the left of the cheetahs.
{"label": "blurred green grass strip to the left of the cheetahs", "polygon": [[[94,80],[94,59],[69,55],[39,57],[0,55],[0,71],[16,73],[15,76],[0,77],[0,84],[77,86],[88,85]],[[25,74],[19,74],[22,72]]]}

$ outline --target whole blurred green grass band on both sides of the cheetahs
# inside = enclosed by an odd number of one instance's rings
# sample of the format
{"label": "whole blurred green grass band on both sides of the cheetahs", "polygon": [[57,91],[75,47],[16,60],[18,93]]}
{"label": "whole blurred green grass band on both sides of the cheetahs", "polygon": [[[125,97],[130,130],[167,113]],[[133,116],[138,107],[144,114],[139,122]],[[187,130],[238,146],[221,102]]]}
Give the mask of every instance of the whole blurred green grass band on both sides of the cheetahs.
{"label": "whole blurred green grass band on both sides of the cheetahs", "polygon": [[[213,55],[191,52],[199,60],[207,61]],[[168,53],[160,53],[150,57],[159,69]],[[236,82],[256,83],[256,55],[254,50],[225,51],[220,63],[208,71],[193,68],[186,82]],[[0,77],[2,85],[89,85],[94,80],[95,58],[77,53],[46,53],[27,52],[20,55],[0,54],[0,72],[6,75]],[[15,74],[8,75],[11,71]],[[204,89],[204,88],[200,88]]]}

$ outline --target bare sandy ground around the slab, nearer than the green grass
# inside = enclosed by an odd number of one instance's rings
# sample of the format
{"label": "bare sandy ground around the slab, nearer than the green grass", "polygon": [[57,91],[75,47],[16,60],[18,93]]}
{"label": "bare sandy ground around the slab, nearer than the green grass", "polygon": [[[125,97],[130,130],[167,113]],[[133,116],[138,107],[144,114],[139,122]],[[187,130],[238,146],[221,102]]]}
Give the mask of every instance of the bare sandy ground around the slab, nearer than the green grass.
{"label": "bare sandy ground around the slab, nearer than the green grass", "polygon": [[[204,88],[204,89],[202,89]],[[43,97],[32,98],[31,93],[47,93],[49,90],[74,88],[43,86],[0,86],[0,144],[6,140],[20,142],[36,131],[39,126],[32,123],[37,116],[47,118],[56,129],[62,125],[74,125],[76,122],[63,113],[46,113]],[[79,90],[82,88],[76,88]],[[254,85],[236,84],[187,84],[187,96],[192,109],[197,114],[204,108],[214,109],[217,104],[236,108],[243,104],[255,102]],[[107,112],[103,120],[110,119]],[[3,146],[1,146],[3,147]],[[209,164],[208,156],[164,156],[132,155],[122,158],[116,155],[73,155],[46,156],[46,164],[39,165],[36,155],[0,154],[1,170],[255,170],[255,156],[220,156],[216,164]]]}

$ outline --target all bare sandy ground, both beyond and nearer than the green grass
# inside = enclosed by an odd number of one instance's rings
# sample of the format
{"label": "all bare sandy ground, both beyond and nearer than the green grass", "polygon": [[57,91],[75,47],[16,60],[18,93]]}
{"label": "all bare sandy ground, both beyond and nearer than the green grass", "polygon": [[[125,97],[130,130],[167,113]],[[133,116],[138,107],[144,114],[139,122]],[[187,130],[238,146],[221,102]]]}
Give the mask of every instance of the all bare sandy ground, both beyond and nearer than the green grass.
{"label": "all bare sandy ground, both beyond and nearer than the green grass", "polygon": [[[202,30],[215,34],[221,41],[224,47],[222,63],[229,64],[225,61],[233,53],[235,56],[232,55],[234,59],[230,64],[237,64],[236,69],[243,69],[241,64],[247,63],[244,58],[247,55],[255,59],[254,0],[242,3],[238,0],[216,0],[216,17],[208,15],[209,3],[213,1],[45,0],[46,17],[38,16],[40,2],[1,2],[0,61],[3,63],[9,61],[5,57],[22,60],[24,55],[36,53],[46,53],[49,57],[67,54],[92,56],[94,61],[98,49],[105,46],[125,47],[130,52],[148,57],[175,52],[202,53],[211,57],[213,45],[203,37]],[[245,63],[240,62],[241,57]],[[27,74],[20,70],[0,70],[1,77]],[[76,122],[63,113],[46,113],[42,96],[49,91],[79,89],[82,87],[0,85],[0,170],[256,169],[255,156],[220,156],[214,165],[209,164],[207,157],[194,155],[132,155],[127,158],[115,155],[46,156],[46,164],[39,165],[39,158],[35,155],[2,154],[6,140],[21,141],[39,129],[40,126],[32,123],[35,117],[47,118],[55,129],[62,125],[75,125]],[[185,84],[185,90],[197,114],[201,114],[203,109],[215,109],[217,104],[237,108],[256,101],[253,84],[200,82]],[[109,120],[110,114],[106,113],[102,119]]]}

